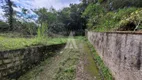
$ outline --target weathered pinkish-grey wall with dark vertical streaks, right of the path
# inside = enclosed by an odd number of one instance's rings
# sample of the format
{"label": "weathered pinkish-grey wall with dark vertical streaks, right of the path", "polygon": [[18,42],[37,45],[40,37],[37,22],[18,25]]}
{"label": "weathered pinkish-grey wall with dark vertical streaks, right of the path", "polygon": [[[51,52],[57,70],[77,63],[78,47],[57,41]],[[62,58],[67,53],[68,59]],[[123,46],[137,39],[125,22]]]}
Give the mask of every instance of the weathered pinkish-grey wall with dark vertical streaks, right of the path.
{"label": "weathered pinkish-grey wall with dark vertical streaks, right of the path", "polygon": [[116,80],[142,80],[142,34],[88,31],[86,35]]}

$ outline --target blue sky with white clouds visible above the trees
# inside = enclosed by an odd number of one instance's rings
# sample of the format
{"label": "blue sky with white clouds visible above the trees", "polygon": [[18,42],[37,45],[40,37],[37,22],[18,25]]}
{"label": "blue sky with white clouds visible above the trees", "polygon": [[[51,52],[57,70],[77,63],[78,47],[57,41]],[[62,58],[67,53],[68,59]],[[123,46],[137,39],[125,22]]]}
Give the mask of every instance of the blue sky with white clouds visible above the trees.
{"label": "blue sky with white clouds visible above the trees", "polygon": [[[1,0],[0,0],[1,1]],[[38,8],[55,8],[56,10],[60,10],[64,7],[68,7],[69,4],[74,3],[78,4],[80,3],[79,0],[11,0],[13,1],[18,7],[14,8],[17,12],[21,13],[21,8],[26,8],[29,10],[29,16],[36,15],[32,12],[31,9],[38,9]],[[1,3],[0,3],[1,6]],[[3,20],[3,11],[0,8],[0,20]]]}

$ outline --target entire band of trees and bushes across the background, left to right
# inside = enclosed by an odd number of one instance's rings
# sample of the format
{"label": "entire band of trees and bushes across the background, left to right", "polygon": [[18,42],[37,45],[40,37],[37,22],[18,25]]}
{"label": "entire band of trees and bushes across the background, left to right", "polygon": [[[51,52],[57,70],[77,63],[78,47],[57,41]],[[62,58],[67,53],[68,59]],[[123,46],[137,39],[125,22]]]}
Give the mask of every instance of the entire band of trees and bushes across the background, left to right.
{"label": "entire band of trees and bushes across the background, left to right", "polygon": [[[79,4],[70,4],[62,10],[39,8],[33,10],[38,19],[27,16],[29,10],[22,8],[18,15],[11,0],[1,3],[6,22],[0,21],[0,30],[19,32],[25,35],[37,35],[38,25],[48,24],[45,33],[54,36],[69,35],[74,31],[81,35],[87,28],[94,31],[137,31],[142,26],[142,0],[80,0]],[[4,5],[5,4],[5,5]],[[22,18],[24,17],[24,18]]]}

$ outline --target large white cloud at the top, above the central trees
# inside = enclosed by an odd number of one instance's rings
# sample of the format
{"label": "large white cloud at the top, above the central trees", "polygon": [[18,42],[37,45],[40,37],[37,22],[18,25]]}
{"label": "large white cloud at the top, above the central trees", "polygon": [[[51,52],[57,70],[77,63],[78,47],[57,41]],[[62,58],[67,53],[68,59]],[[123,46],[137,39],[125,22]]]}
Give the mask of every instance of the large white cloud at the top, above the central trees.
{"label": "large white cloud at the top, above the central trees", "polygon": [[79,0],[12,0],[16,4],[24,8],[50,8],[54,7],[56,10],[69,6],[70,3],[79,3]]}

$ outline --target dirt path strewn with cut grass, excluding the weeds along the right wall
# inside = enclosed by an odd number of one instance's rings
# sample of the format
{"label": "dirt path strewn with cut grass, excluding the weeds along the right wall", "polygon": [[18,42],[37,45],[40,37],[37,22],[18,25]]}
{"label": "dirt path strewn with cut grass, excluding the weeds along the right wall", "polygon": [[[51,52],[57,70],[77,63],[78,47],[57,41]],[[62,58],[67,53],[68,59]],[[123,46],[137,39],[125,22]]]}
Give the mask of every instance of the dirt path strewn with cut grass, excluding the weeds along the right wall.
{"label": "dirt path strewn with cut grass, excluding the weeds along the right wall", "polygon": [[101,80],[87,44],[71,39],[54,57],[48,58],[19,80]]}

